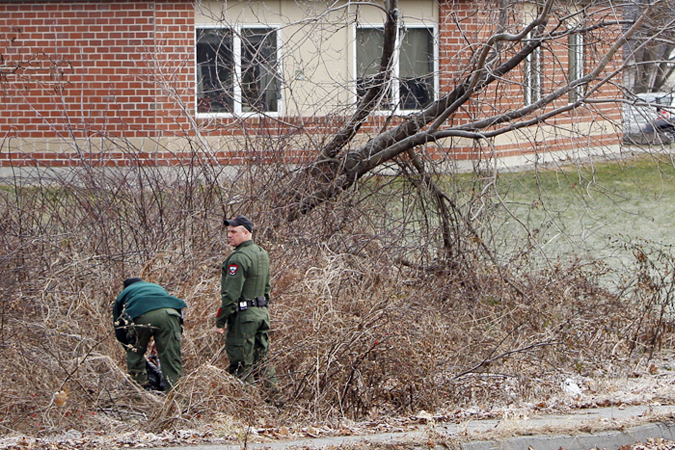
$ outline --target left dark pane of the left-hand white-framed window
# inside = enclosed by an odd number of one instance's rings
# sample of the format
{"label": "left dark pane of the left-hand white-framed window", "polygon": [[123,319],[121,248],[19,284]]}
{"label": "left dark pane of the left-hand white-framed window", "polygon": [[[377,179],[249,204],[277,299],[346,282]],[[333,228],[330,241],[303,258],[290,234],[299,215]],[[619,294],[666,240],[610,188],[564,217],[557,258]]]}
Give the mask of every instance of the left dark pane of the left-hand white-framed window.
{"label": "left dark pane of the left-hand white-framed window", "polygon": [[197,111],[233,111],[232,32],[197,30]]}

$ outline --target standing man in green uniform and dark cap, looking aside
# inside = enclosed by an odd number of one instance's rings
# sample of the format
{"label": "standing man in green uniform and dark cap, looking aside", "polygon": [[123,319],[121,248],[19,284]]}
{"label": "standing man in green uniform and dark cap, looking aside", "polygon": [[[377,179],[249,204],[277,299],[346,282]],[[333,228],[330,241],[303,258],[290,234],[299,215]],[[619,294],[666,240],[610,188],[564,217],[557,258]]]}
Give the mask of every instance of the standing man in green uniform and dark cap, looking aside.
{"label": "standing man in green uniform and dark cap, looking aside", "polygon": [[216,333],[225,334],[228,371],[244,381],[262,380],[276,394],[276,371],[266,365],[269,351],[270,257],[253,242],[253,223],[245,216],[225,220],[234,251],[222,265],[221,307]]}

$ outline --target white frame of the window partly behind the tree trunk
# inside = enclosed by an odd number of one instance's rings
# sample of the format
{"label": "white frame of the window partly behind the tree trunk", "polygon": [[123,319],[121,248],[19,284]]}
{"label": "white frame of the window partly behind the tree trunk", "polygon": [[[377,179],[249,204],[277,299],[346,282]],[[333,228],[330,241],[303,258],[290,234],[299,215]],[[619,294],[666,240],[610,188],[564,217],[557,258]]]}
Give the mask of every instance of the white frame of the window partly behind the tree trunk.
{"label": "white frame of the window partly behind the tree trunk", "polygon": [[[358,89],[357,89],[357,77],[358,77],[358,60],[357,60],[357,51],[356,51],[356,33],[358,32],[359,29],[380,29],[384,30],[384,25],[383,24],[373,24],[373,23],[358,23],[353,26],[353,32],[352,35],[354,36],[354,39],[352,39],[352,73],[353,73],[353,101],[354,104],[358,103],[359,96],[358,96]],[[389,90],[391,94],[391,102],[393,105],[396,105],[394,109],[390,108],[380,108],[378,107],[377,110],[375,111],[376,114],[409,114],[411,112],[416,112],[420,111],[419,109],[401,109],[399,108],[399,103],[400,103],[400,96],[401,96],[401,90],[400,90],[400,83],[399,83],[399,55],[400,55],[400,50],[401,50],[401,29],[406,28],[406,29],[425,29],[425,30],[431,30],[432,34],[432,47],[433,47],[433,98],[431,102],[435,102],[438,100],[438,90],[439,90],[439,62],[438,62],[438,57],[439,57],[439,35],[438,35],[438,24],[433,24],[433,25],[428,25],[424,23],[419,23],[419,24],[406,24],[399,26],[398,29],[396,30],[396,43],[394,46],[394,54],[392,55],[392,76],[391,80],[389,81]]]}

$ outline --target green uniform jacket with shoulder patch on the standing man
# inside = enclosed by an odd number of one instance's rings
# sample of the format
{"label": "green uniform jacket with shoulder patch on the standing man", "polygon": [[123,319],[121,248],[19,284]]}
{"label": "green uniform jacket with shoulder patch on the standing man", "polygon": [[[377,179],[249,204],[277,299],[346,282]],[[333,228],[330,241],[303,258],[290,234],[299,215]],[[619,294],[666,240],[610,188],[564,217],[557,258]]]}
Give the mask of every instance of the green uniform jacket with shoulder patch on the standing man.
{"label": "green uniform jacket with shoulder patch on the standing man", "polygon": [[227,319],[237,310],[240,300],[253,300],[270,294],[270,257],[252,240],[242,242],[222,265],[221,305],[216,327],[225,328]]}

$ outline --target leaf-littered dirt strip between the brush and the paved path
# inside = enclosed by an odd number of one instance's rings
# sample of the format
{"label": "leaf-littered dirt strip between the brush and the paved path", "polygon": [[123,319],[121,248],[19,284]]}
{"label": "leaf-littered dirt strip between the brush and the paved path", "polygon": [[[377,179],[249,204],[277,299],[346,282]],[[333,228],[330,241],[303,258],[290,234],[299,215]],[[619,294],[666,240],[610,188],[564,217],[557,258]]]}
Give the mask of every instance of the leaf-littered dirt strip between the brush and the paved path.
{"label": "leaf-littered dirt strip between the brush and the paved path", "polygon": [[[440,430],[443,424],[455,424],[460,429],[462,424],[468,424],[476,421],[495,421],[498,420],[501,425],[494,427],[493,431],[484,433],[479,439],[476,436],[451,437],[450,440],[444,439],[443,433],[433,436],[432,440],[438,445],[452,446],[462,440],[491,440],[499,439],[505,435],[517,435],[522,433],[518,430],[516,423],[518,417],[524,416],[546,416],[554,414],[575,414],[575,412],[588,408],[629,408],[631,406],[659,406],[675,405],[675,370],[671,368],[671,358],[663,358],[658,364],[655,364],[652,370],[636,372],[631,377],[621,379],[591,379],[583,377],[571,377],[561,383],[560,395],[550,398],[545,402],[539,403],[519,403],[503,405],[499,407],[475,406],[473,408],[454,409],[446,411],[436,411],[433,414],[426,411],[419,411],[417,414],[408,417],[377,417],[366,422],[348,422],[345,421],[340,427],[327,427],[326,425],[316,426],[298,426],[288,423],[275,427],[256,427],[248,430],[239,430],[240,433],[232,431],[229,434],[209,433],[204,430],[174,430],[165,431],[161,434],[145,433],[133,431],[129,433],[120,433],[116,435],[94,435],[71,430],[58,436],[43,436],[40,438],[28,436],[6,436],[0,439],[0,449],[3,450],[73,450],[73,449],[109,449],[109,448],[151,448],[151,447],[172,447],[172,446],[191,446],[217,444],[224,446],[241,445],[243,439],[246,442],[261,443],[262,445],[273,445],[274,448],[288,444],[288,449],[297,448],[291,444],[299,439],[316,438],[330,439],[338,436],[366,436],[374,434],[386,434],[397,432],[410,432],[418,430],[427,431],[425,436],[429,436],[428,430],[435,429],[438,424]],[[650,366],[652,367],[652,366]],[[576,388],[578,388],[578,390]],[[596,423],[592,426],[577,427],[558,427],[547,430],[541,430],[544,434],[563,434],[574,432],[598,432],[608,429],[622,429],[622,427],[637,426],[648,422],[672,421],[672,417],[663,416],[644,416],[634,417],[626,421],[612,421],[604,424]],[[509,421],[514,423],[513,427],[507,424]],[[531,433],[528,431],[527,433]],[[433,434],[433,433],[432,433]],[[424,440],[424,439],[423,439]],[[335,445],[330,445],[331,449],[387,449],[387,450],[408,450],[422,448],[420,442],[414,443],[360,443],[347,444],[339,439],[335,440]],[[242,446],[241,448],[246,448]],[[452,448],[452,447],[449,447]],[[662,450],[675,449],[674,441],[664,441],[652,439],[634,446],[622,447],[621,450]],[[534,449],[536,450],[536,449]]]}

